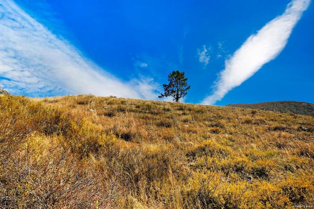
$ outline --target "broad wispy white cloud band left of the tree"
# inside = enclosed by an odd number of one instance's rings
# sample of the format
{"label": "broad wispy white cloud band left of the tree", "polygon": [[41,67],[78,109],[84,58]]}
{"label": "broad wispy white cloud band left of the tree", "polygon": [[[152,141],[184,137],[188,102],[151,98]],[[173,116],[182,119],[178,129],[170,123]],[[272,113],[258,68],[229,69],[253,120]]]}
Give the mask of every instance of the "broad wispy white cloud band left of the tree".
{"label": "broad wispy white cloud band left of the tree", "polygon": [[148,83],[138,90],[96,66],[12,0],[0,1],[0,15],[0,86],[11,93],[147,98],[154,90]]}

